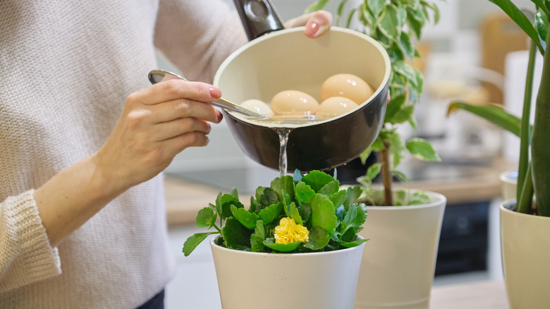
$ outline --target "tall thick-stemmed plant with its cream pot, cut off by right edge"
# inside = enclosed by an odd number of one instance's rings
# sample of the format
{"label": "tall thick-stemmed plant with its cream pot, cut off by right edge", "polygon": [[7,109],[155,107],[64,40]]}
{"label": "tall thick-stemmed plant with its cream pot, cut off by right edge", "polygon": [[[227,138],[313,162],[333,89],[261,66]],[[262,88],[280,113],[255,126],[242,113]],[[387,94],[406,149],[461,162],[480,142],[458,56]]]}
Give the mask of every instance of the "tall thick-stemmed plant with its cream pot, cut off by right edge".
{"label": "tall thick-stemmed plant with its cream pot, cut off by right edge", "polygon": [[[453,102],[449,111],[465,109],[520,137],[516,200],[501,205],[503,274],[511,308],[547,308],[550,295],[550,56],[549,0],[532,0],[537,11],[534,23],[509,0],[490,0],[510,16],[530,37],[531,47],[525,80],[521,119],[493,104]],[[534,123],[530,124],[535,56],[543,55]],[[536,199],[534,198],[536,197]]]}

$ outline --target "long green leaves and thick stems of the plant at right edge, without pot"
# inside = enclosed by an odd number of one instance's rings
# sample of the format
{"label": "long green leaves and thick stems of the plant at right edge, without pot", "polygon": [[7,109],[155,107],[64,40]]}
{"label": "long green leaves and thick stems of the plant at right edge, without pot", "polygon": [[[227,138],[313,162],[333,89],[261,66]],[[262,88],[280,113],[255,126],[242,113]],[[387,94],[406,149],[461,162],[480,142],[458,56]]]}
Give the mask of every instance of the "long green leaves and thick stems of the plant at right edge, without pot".
{"label": "long green leaves and thick stems of the plant at right edge, without pot", "polygon": [[[464,109],[496,123],[520,137],[520,159],[518,164],[517,211],[537,212],[550,217],[550,56],[546,48],[550,40],[548,30],[550,17],[549,0],[531,0],[537,8],[534,24],[510,0],[489,0],[499,6],[530,37],[531,48],[525,78],[525,97],[522,118],[504,111],[496,104],[468,104],[453,102],[449,113]],[[531,97],[534,63],[537,52],[544,56],[542,76],[537,94],[534,124],[530,125]],[[531,150],[531,159],[529,152]],[[533,195],[537,197],[532,209]]]}

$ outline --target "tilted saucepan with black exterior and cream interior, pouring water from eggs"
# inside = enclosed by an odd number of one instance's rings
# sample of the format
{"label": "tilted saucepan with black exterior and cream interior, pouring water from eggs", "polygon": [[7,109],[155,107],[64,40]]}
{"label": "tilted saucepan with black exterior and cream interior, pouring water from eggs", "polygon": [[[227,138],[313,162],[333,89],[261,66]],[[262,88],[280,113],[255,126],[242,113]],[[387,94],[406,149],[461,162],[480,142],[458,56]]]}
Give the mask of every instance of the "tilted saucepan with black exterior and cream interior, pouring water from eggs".
{"label": "tilted saucepan with black exterior and cream interior, pouring water from eggs", "polygon": [[[235,2],[239,6],[241,1]],[[251,2],[268,7],[269,14],[274,11],[267,0],[245,2],[249,4],[241,10],[245,28]],[[389,56],[381,44],[361,32],[338,27],[316,39],[306,37],[304,28],[259,36],[250,34],[250,29],[247,33],[251,41],[228,56],[214,77],[214,85],[232,102],[259,99],[269,103],[282,90],[299,90],[321,102],[322,83],[338,73],[357,75],[374,90],[353,111],[293,128],[286,143],[287,171],[333,169],[355,159],[374,142],[384,123],[391,71]],[[279,134],[245,116],[222,112],[247,157],[279,169]]]}

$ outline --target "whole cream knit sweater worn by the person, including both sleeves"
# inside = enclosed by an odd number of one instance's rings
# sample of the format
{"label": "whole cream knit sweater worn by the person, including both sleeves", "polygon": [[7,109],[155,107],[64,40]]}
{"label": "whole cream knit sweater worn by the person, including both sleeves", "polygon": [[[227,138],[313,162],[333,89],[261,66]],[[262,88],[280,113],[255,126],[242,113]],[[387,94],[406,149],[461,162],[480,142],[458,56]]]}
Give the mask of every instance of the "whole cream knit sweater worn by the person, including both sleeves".
{"label": "whole cream knit sweater worn by the person, including both sleeves", "polygon": [[211,80],[246,41],[230,10],[221,0],[0,1],[0,308],[135,308],[163,289],[175,253],[161,176],[59,248],[32,193],[99,150],[126,96],[149,86],[154,45],[188,78]]}

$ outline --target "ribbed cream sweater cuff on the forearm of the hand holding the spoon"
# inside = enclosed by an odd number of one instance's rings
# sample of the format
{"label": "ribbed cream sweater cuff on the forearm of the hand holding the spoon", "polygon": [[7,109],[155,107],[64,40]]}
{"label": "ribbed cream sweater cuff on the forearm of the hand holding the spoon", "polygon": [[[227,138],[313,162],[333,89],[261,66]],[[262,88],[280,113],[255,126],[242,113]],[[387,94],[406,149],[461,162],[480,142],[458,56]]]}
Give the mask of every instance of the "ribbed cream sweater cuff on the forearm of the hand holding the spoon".
{"label": "ribbed cream sweater cuff on the forearm of the hand holding the spoon", "polygon": [[61,274],[33,193],[0,202],[0,293]]}

